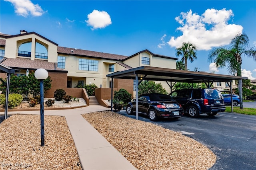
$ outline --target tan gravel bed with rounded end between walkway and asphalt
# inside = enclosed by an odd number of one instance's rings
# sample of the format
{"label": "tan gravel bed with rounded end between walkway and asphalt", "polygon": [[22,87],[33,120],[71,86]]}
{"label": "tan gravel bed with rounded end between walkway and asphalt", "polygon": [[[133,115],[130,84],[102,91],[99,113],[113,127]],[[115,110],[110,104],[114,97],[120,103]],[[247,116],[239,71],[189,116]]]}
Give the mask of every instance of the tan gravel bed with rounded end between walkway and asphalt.
{"label": "tan gravel bed with rounded end between walkway and asphalt", "polygon": [[111,111],[82,115],[139,170],[207,170],[216,156],[181,133]]}

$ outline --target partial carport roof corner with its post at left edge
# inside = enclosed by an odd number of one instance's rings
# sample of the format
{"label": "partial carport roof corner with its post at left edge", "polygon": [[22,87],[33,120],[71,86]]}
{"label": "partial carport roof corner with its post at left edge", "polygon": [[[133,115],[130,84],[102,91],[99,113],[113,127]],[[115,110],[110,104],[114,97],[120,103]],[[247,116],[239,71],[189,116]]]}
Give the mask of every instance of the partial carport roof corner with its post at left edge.
{"label": "partial carport roof corner with its post at left edge", "polygon": [[5,98],[5,108],[4,108],[4,119],[7,119],[8,112],[8,98],[9,98],[9,87],[10,87],[10,75],[15,74],[15,70],[0,63],[1,72],[6,73],[7,82],[6,82],[6,98]]}

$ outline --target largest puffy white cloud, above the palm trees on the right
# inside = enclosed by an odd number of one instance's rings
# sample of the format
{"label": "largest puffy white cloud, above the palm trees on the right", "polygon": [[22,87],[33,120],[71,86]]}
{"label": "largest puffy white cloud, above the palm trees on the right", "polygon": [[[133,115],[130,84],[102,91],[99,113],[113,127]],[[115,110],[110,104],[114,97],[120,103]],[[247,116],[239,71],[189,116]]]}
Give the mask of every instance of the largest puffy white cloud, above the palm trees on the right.
{"label": "largest puffy white cloud, above the palm trees on the right", "polygon": [[171,37],[168,44],[171,47],[180,47],[183,42],[196,45],[198,50],[210,50],[212,47],[228,45],[230,40],[241,33],[241,25],[228,24],[233,17],[232,10],[207,9],[201,16],[189,12],[182,12],[175,20],[182,26],[177,30],[182,32],[179,37]]}

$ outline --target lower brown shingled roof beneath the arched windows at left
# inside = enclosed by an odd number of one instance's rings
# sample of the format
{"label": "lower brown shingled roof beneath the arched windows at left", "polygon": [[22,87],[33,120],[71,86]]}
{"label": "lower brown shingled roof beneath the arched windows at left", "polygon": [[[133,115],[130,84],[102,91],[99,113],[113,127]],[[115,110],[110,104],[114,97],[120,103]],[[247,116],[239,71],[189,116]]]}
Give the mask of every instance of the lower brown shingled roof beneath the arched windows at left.
{"label": "lower brown shingled roof beneath the arched windows at left", "polygon": [[50,62],[47,62],[46,60],[30,60],[26,58],[17,57],[16,59],[4,58],[1,60],[1,63],[13,69],[36,70],[38,68],[44,68],[48,71],[68,72],[67,70],[58,68],[57,63],[50,63]]}

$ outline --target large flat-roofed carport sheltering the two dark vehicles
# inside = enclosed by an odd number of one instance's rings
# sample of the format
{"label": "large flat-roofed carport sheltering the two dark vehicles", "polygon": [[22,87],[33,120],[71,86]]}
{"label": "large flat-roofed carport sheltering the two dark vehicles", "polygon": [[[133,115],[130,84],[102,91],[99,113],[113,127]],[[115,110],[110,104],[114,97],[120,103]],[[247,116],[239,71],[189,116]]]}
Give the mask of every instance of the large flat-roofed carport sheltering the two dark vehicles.
{"label": "large flat-roofed carport sheltering the two dark vehicles", "polygon": [[[136,119],[138,120],[138,85],[143,80],[152,81],[165,81],[170,89],[176,82],[187,82],[187,83],[205,83],[208,88],[212,86],[214,82],[227,82],[230,88],[231,102],[232,102],[232,80],[248,79],[247,77],[240,76],[229,76],[223,74],[213,74],[208,72],[194,72],[186,70],[176,70],[171,68],[160,68],[151,66],[140,66],[129,70],[123,70],[120,72],[114,72],[108,74],[107,77],[111,78],[111,111],[112,99],[113,99],[113,79],[133,79],[136,80]],[[170,84],[169,84],[170,82]],[[174,84],[172,85],[172,82]],[[192,87],[192,86],[191,86]],[[231,111],[233,112],[233,105],[231,105]]]}

